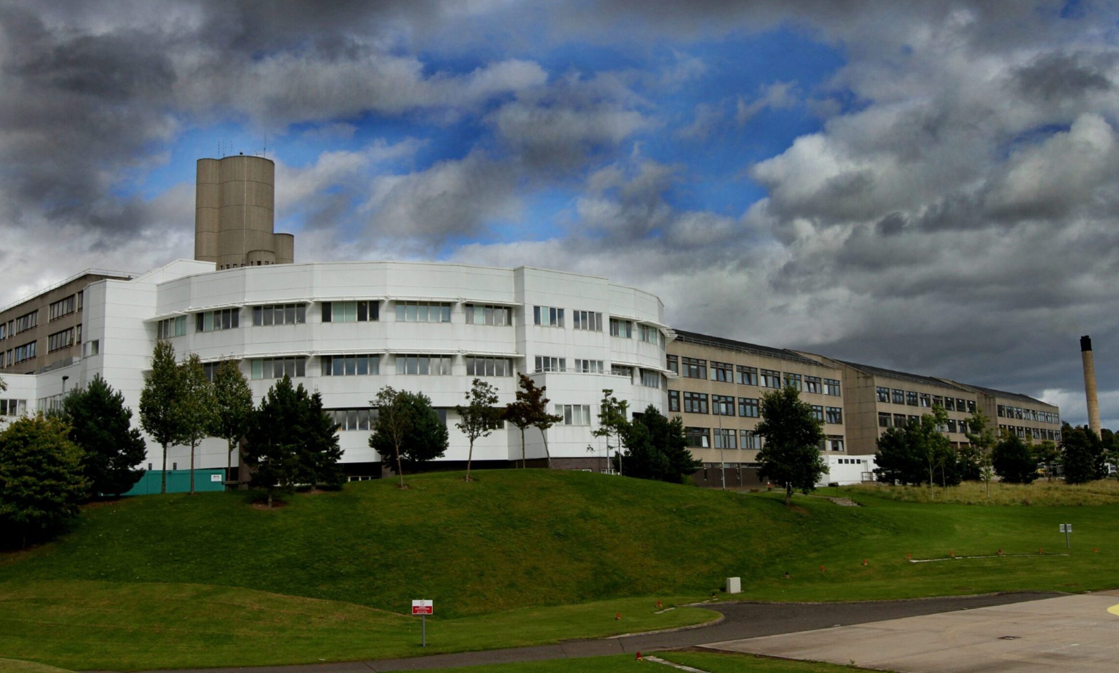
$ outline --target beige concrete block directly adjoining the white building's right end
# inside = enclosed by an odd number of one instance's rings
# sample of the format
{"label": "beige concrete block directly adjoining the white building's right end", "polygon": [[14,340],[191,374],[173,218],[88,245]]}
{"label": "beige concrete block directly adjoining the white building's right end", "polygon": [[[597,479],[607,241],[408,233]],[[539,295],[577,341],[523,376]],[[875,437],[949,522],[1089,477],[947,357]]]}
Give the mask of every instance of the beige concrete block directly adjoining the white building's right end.
{"label": "beige concrete block directly adjoining the white building's right end", "polygon": [[676,330],[667,348],[668,412],[684,419],[702,486],[758,486],[761,396],[792,385],[825,422],[826,454],[846,456],[841,370],[784,348]]}

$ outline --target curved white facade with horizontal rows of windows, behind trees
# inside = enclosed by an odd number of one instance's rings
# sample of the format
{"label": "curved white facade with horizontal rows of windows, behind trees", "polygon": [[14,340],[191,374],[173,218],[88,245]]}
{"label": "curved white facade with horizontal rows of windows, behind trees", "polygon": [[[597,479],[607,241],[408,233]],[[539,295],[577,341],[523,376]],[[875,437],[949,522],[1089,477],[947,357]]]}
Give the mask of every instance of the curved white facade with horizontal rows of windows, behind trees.
{"label": "curved white facade with horizontal rows of windows, behind trees", "polygon": [[[164,329],[172,335],[169,338],[180,357],[197,353],[208,363],[241,361],[242,371],[253,377],[257,401],[275,383],[265,376],[270,367],[275,374],[278,359],[288,371],[302,374],[293,381],[322,393],[326,408],[350,410],[346,418],[357,422],[359,429],[339,432],[347,464],[380,459],[368,448],[369,431],[360,428],[369,400],[384,385],[423,392],[436,409],[446,410],[450,448],[443,460],[464,461],[468,442],[454,427],[453,406],[463,403],[477,375],[468,373],[468,367],[480,366],[481,358],[489,358],[481,363],[493,367],[495,374],[507,370],[506,375],[487,375],[490,370],[486,370],[478,376],[497,387],[500,403],[514,399],[516,374],[525,373],[547,386],[553,411],[556,404],[570,405],[561,410],[566,422],[548,432],[548,448],[557,467],[603,465],[594,459],[603,456],[603,441],[591,434],[598,427],[603,389],[628,401],[631,411],[640,412],[649,404],[665,410],[664,305],[653,295],[598,277],[525,267],[408,262],[213,271],[211,264],[180,260],[131,281],[94,283],[85,302],[83,357],[70,367],[40,375],[39,398],[60,392],[53,390],[51,382],[62,375],[69,375],[74,386],[100,372],[138,410],[143,372],[150,366],[159,330]],[[357,302],[365,302],[361,312],[355,311]],[[254,312],[255,307],[284,305],[291,308],[282,325],[276,324],[274,309],[266,309],[273,316],[271,325],[264,324],[265,309]],[[325,312],[326,305],[329,312]],[[508,316],[511,324],[467,323],[468,311],[476,310],[476,321],[485,323],[486,307],[491,323]],[[544,309],[539,325],[537,307]],[[419,321],[425,309],[429,321]],[[549,309],[562,310],[562,326],[548,325],[558,323],[558,312]],[[577,317],[575,311],[580,311]],[[585,319],[582,311],[586,311]],[[236,327],[231,318],[234,314]],[[377,319],[370,319],[374,314]],[[258,325],[254,325],[254,315]],[[359,317],[365,320],[340,321]],[[228,328],[214,328],[224,327],[223,318]],[[292,318],[295,324],[286,324]],[[611,319],[619,336],[611,336]],[[538,357],[546,359],[537,363]],[[341,361],[335,364],[333,358]],[[495,367],[498,361],[501,364]],[[363,362],[365,373],[360,373]],[[425,363],[427,374],[422,375]],[[537,372],[537,364],[545,371]],[[528,429],[526,440],[527,457],[543,458],[539,431]],[[149,446],[150,460],[158,468],[161,449]],[[589,447],[595,450],[589,451]],[[473,458],[499,462],[519,459],[519,431],[510,427],[480,439]],[[168,467],[172,461],[182,467],[186,460],[187,450],[177,447]],[[225,442],[208,440],[201,448],[201,467],[225,465]],[[350,471],[361,474],[359,468]]]}

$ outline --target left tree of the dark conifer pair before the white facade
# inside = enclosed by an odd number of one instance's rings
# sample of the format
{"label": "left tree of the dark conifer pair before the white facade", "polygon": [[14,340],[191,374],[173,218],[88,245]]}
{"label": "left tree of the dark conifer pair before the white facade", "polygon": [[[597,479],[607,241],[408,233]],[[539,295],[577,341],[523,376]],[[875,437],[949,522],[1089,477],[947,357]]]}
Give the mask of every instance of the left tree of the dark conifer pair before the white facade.
{"label": "left tree of the dark conifer pair before the white facade", "polygon": [[289,428],[298,415],[295,390],[285,375],[269,389],[250,417],[243,452],[245,462],[253,468],[250,486],[267,492],[269,507],[276,493],[294,487],[299,475],[299,438]]}

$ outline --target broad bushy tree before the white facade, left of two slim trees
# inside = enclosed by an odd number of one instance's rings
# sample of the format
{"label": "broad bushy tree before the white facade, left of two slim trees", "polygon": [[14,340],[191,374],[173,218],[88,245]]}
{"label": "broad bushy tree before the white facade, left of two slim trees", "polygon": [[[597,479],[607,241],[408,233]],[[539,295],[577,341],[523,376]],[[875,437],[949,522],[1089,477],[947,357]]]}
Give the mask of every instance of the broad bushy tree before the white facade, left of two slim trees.
{"label": "broad bushy tree before the white facade, left of two slim trees", "polygon": [[404,467],[417,467],[446,452],[446,426],[431,408],[423,393],[396,391],[386,385],[370,401],[377,420],[369,436],[369,447],[384,458],[393,457],[404,488]]}

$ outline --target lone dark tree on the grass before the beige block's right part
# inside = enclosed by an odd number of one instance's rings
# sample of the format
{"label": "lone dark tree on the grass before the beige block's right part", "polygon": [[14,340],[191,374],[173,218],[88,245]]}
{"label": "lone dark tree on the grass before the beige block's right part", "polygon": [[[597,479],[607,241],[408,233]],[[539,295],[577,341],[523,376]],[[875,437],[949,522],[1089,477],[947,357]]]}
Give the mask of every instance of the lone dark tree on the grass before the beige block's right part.
{"label": "lone dark tree on the grass before the beige block's right part", "polygon": [[812,417],[811,405],[801,402],[791,385],[762,395],[761,412],[762,421],[754,432],[764,437],[765,443],[758,451],[761,462],[758,475],[784,484],[788,506],[793,488],[807,494],[827,473],[819,448],[824,441],[824,421]]}

